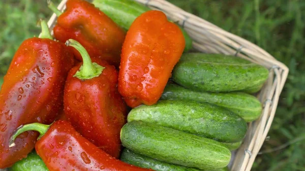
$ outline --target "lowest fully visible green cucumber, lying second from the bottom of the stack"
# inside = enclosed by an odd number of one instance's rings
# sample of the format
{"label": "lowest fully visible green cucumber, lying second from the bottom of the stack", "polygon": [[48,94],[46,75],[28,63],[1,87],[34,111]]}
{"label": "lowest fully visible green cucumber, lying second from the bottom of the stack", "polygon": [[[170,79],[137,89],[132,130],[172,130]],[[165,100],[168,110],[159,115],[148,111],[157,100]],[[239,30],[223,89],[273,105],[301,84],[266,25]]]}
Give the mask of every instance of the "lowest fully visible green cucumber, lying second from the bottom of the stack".
{"label": "lowest fully visible green cucumber, lying second from the bottom of the stack", "polygon": [[136,153],[188,167],[223,168],[231,158],[230,150],[220,142],[142,121],[125,124],[120,139]]}

